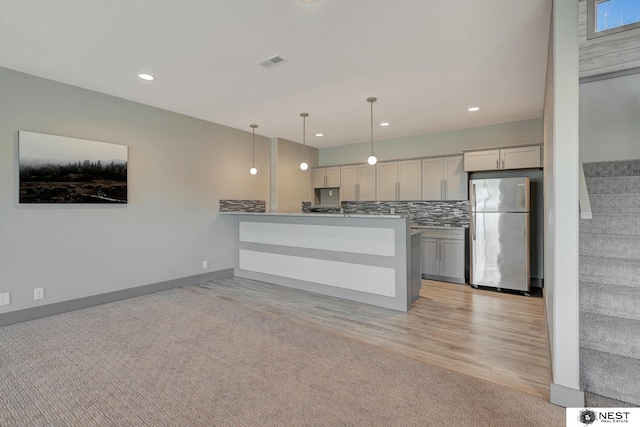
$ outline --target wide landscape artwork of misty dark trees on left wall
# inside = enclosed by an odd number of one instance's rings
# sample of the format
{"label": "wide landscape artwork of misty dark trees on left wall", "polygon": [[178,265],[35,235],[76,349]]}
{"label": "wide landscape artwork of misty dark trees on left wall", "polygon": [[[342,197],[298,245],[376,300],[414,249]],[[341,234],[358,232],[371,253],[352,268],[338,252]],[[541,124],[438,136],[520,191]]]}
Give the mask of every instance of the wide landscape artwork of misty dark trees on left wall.
{"label": "wide landscape artwork of misty dark trees on left wall", "polygon": [[20,203],[127,203],[126,145],[19,131]]}

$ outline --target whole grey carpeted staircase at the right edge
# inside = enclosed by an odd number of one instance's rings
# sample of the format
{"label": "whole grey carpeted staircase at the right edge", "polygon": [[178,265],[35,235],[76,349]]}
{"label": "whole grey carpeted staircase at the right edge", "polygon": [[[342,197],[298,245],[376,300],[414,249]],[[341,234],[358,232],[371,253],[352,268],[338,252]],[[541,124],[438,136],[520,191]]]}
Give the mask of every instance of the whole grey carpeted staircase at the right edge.
{"label": "whole grey carpeted staircase at the right edge", "polygon": [[580,377],[585,392],[640,405],[640,160],[585,163],[580,220]]}

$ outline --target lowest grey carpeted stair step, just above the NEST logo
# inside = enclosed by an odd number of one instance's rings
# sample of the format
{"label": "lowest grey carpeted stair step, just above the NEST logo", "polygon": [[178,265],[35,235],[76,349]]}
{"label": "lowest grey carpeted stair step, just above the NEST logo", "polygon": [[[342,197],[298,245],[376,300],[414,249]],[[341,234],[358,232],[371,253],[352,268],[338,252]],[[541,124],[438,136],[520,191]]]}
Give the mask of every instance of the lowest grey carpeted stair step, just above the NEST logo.
{"label": "lowest grey carpeted stair step, just above the NEST logo", "polygon": [[640,360],[587,348],[580,349],[584,391],[640,405]]}

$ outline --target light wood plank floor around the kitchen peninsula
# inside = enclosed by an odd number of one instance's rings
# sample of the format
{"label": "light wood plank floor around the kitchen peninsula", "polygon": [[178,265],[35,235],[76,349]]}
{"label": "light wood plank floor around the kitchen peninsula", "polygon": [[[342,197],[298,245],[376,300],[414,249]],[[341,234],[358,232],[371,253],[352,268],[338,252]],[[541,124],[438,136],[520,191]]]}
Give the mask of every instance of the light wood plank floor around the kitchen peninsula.
{"label": "light wood plank floor around the kitchen peninsula", "polygon": [[201,287],[269,315],[549,398],[544,302],[423,280],[408,313],[225,278]]}

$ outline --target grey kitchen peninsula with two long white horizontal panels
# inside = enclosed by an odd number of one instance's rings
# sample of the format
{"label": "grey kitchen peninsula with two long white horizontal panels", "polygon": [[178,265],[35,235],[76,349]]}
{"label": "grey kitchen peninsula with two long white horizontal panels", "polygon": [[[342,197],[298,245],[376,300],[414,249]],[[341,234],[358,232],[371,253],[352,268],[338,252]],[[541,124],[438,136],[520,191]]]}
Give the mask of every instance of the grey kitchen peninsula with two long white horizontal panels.
{"label": "grey kitchen peninsula with two long white horizontal panels", "polygon": [[420,234],[405,215],[221,212],[234,216],[234,274],[408,311]]}

